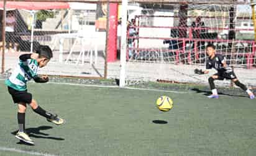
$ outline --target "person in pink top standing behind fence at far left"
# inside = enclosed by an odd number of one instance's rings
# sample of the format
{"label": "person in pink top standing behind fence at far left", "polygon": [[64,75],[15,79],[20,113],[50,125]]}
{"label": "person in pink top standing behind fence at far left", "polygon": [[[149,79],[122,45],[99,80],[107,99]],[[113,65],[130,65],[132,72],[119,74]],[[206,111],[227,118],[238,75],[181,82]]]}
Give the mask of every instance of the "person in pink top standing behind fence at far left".
{"label": "person in pink top standing behind fence at far left", "polygon": [[16,18],[13,11],[8,11],[6,14],[6,48],[10,50],[10,43],[12,51],[14,51],[14,26],[16,24]]}

